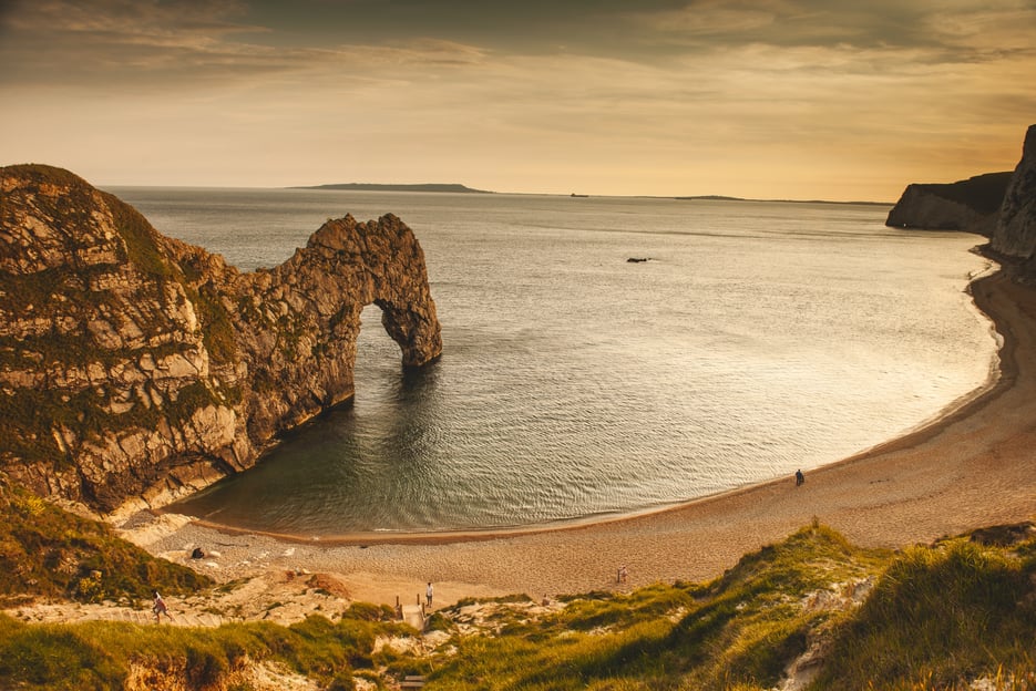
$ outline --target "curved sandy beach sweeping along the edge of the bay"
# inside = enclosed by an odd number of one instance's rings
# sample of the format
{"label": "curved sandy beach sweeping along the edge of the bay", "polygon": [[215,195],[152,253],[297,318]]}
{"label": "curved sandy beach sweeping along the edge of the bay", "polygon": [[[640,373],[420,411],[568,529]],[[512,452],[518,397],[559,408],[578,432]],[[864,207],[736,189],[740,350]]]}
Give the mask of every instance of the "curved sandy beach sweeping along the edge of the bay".
{"label": "curved sandy beach sweeping along the edge of the bay", "polygon": [[[332,575],[356,600],[435,605],[464,597],[575,594],[655,581],[702,581],[814,517],[862,546],[930,543],[1036,518],[1036,288],[1005,268],[971,286],[1003,340],[998,375],[924,427],[842,462],[685,505],[515,534],[384,542],[288,540],[160,515],[125,534],[218,580],[306,570]],[[191,559],[202,547],[218,556]],[[628,581],[616,584],[625,565]]]}

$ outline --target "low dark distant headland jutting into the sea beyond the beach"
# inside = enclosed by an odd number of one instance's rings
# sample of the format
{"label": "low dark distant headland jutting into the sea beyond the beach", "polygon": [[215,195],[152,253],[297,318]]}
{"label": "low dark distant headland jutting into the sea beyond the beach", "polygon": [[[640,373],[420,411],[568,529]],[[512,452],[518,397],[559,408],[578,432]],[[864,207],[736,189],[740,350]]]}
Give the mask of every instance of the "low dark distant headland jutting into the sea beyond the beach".
{"label": "low dark distant headland jutting into the sea beyond the beach", "polygon": [[996,227],[997,212],[1011,173],[988,173],[951,184],[913,184],[889,212],[886,226],[926,230],[966,230],[986,237]]}

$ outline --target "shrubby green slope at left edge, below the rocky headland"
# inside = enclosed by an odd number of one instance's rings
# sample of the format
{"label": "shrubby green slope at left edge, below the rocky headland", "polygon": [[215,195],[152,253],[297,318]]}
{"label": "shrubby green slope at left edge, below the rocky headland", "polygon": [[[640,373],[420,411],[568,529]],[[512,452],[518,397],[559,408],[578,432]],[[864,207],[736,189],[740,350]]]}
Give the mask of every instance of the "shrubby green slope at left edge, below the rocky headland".
{"label": "shrubby green slope at left edge, below the rocky headland", "polygon": [[0,483],[0,601],[31,596],[80,601],[150,600],[157,588],[186,595],[211,579],[123,540],[106,524],[80,518]]}

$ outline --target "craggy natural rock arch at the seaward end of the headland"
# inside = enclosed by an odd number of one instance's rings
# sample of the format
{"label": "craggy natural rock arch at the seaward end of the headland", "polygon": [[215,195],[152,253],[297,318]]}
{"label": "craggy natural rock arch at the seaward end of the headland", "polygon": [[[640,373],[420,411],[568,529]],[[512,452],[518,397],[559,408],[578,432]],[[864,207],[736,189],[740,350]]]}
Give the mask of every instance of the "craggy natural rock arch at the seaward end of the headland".
{"label": "craggy natural rock arch at the seaward end of the headland", "polygon": [[[424,252],[391,214],[367,223],[351,216],[328,220],[269,276],[261,281],[256,272],[252,280],[264,283],[260,302],[277,314],[276,323],[254,321],[258,329],[243,343],[257,375],[284,385],[274,396],[254,399],[253,436],[295,426],[355,395],[357,339],[369,305],[381,310],[404,367],[421,367],[442,352]],[[312,347],[281,347],[299,333],[312,336]],[[270,342],[273,348],[253,347]]]}

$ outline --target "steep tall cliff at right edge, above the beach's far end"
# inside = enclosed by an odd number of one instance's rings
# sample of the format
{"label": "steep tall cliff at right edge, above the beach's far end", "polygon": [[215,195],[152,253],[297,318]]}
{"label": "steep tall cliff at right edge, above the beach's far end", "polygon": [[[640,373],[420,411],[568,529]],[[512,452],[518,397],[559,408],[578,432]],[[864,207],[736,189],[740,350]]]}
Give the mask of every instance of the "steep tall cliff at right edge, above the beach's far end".
{"label": "steep tall cliff at right edge, above the beach's far end", "polygon": [[1025,134],[1022,161],[1004,195],[991,245],[1011,257],[1036,257],[1036,125]]}

